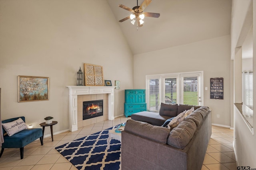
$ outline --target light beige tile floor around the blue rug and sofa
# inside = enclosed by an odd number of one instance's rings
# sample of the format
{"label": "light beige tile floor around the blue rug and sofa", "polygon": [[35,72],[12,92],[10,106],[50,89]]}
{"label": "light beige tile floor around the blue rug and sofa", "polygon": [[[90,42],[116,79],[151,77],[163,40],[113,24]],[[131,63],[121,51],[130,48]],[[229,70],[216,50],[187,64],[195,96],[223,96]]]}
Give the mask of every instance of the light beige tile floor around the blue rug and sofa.
{"label": "light beige tile floor around the blue rug and sofa", "polygon": [[[34,141],[24,147],[24,158],[20,159],[20,149],[5,149],[0,158],[1,170],[76,170],[55,147],[108,129],[114,125],[124,123],[130,119],[124,116],[117,117],[113,121],[102,121],[93,125],[79,128],[78,131],[64,132],[44,138],[44,145],[40,140]],[[236,158],[233,150],[233,130],[229,128],[212,126],[212,137],[206,151],[202,170],[235,170]]]}

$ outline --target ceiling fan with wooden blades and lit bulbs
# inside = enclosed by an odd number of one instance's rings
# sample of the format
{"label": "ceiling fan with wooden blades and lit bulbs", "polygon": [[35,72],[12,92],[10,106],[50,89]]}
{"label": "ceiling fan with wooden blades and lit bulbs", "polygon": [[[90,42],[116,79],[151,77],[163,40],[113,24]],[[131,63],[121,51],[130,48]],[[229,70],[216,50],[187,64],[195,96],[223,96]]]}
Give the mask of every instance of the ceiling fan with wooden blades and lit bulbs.
{"label": "ceiling fan with wooden blades and lit bulbs", "polygon": [[[159,18],[160,14],[159,13],[153,13],[153,12],[143,12],[145,8],[152,2],[152,0],[144,0],[140,6],[138,6],[138,0],[137,0],[137,6],[134,6],[132,9],[124,6],[122,4],[118,5],[120,8],[123,8],[125,10],[128,10],[132,12],[132,14],[126,18],[123,18],[122,20],[119,20],[119,22],[123,22],[128,20],[129,18],[132,20],[131,23],[134,25],[135,21],[137,20],[137,28],[142,27],[144,21],[144,17],[154,17],[154,18]],[[138,30],[138,29],[137,29]]]}

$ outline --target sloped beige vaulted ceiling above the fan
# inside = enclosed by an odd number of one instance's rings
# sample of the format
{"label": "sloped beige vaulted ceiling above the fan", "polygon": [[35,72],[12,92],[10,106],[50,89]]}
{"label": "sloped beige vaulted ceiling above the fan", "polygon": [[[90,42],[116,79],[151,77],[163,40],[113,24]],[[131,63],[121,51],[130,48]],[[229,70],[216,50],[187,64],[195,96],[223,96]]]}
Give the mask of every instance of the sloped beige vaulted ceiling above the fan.
{"label": "sloped beige vaulted ceiling above the fan", "polygon": [[[138,0],[138,6],[144,0]],[[107,0],[119,20],[131,12],[118,7],[137,6],[137,0]],[[119,23],[134,55],[230,35],[231,0],[152,0],[144,12],[160,13],[145,17],[142,27]]]}

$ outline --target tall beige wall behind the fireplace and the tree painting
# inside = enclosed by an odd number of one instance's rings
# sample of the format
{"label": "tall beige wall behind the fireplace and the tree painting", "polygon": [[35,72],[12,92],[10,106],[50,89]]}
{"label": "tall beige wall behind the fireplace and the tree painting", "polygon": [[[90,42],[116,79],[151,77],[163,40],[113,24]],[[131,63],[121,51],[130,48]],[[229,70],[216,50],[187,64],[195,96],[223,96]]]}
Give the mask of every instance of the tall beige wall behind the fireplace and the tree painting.
{"label": "tall beige wall behind the fireplace and the tree painting", "polygon": [[[120,80],[114,115],[123,115],[133,55],[106,0],[1,0],[0,37],[2,119],[24,115],[39,125],[49,115],[58,121],[54,132],[68,129],[66,86],[76,85],[84,63],[103,66],[113,85]],[[18,103],[18,75],[49,77],[49,100]]]}

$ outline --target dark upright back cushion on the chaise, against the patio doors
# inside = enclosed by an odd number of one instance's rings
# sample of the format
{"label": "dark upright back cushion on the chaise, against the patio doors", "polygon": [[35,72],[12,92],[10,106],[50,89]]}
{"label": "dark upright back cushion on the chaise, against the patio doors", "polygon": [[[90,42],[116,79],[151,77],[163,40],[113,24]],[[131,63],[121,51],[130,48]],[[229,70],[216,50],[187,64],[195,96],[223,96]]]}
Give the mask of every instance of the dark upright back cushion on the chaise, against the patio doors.
{"label": "dark upright back cushion on the chaise, against the patio doors", "polygon": [[178,104],[161,103],[159,114],[163,116],[174,117],[177,115],[177,111],[178,111]]}

